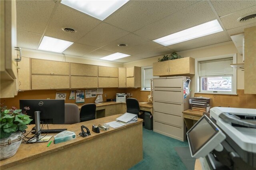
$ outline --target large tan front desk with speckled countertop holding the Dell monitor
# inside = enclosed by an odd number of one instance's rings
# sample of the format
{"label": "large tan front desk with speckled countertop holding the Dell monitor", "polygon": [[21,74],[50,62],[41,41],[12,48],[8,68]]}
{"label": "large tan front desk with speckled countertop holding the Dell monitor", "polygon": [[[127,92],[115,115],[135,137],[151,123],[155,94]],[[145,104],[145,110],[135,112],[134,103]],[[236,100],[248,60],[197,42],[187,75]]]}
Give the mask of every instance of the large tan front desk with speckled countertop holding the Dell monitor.
{"label": "large tan front desk with speckled countertop holding the Dell monitor", "polygon": [[[76,137],[71,141],[54,144],[22,143],[17,153],[0,161],[0,169],[129,169],[143,158],[142,119],[138,122],[100,133],[92,132],[92,125],[114,121],[119,115],[112,115],[72,125],[49,125],[49,129],[67,128],[76,135],[81,132],[81,125],[90,129],[88,137]],[[27,131],[34,127],[29,125]],[[54,135],[54,133],[52,133]],[[49,135],[49,134],[48,134]]]}

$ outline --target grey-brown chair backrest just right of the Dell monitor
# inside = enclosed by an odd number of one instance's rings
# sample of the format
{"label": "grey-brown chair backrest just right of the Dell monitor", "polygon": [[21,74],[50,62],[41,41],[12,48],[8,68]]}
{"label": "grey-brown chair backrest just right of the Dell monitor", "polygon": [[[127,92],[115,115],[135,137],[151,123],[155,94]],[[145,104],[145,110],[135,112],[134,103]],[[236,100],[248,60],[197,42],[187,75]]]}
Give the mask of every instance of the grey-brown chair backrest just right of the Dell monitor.
{"label": "grey-brown chair backrest just right of the Dell monitor", "polygon": [[76,104],[65,103],[65,122],[64,124],[79,123],[79,108]]}

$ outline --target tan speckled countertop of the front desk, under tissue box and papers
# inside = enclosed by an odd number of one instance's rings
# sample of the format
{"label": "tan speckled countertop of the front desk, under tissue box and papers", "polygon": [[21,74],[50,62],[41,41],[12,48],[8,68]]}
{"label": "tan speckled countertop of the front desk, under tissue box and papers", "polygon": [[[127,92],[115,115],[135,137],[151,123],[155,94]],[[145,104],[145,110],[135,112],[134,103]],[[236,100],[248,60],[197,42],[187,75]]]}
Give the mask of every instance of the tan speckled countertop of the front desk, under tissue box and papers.
{"label": "tan speckled countertop of the front desk, under tissue box and papers", "polygon": [[[90,129],[90,133],[91,135],[88,137],[76,137],[76,139],[74,140],[70,140],[70,141],[66,141],[66,142],[62,142],[62,143],[58,143],[58,144],[54,144],[54,142],[52,142],[52,144],[50,145],[50,147],[47,147],[47,142],[43,142],[43,143],[33,143],[33,144],[28,144],[28,143],[22,143],[17,151],[17,153],[5,160],[1,160],[0,161],[0,168],[2,169],[6,169],[8,167],[11,166],[15,166],[18,164],[21,164],[23,162],[27,162],[29,160],[33,160],[36,158],[39,158],[41,156],[45,156],[47,154],[51,154],[53,152],[57,152],[59,150],[63,150],[66,149],[68,147],[72,147],[93,139],[96,139],[98,137],[102,137],[104,135],[108,135],[110,133],[116,132],[116,131],[120,131],[121,129],[125,129],[127,127],[130,126],[134,126],[136,124],[142,123],[142,119],[138,119],[138,122],[136,123],[131,123],[116,129],[113,129],[112,127],[110,127],[110,130],[108,131],[100,131],[100,133],[94,133],[93,131],[91,131],[92,129],[92,125],[98,125],[98,124],[103,124],[103,123],[107,123],[110,121],[114,121],[117,117],[119,117],[122,114],[118,114],[118,115],[112,115],[112,116],[108,116],[108,117],[103,117],[100,119],[94,119],[91,121],[86,121],[86,122],[81,122],[81,123],[76,123],[76,124],[72,124],[72,125],[48,125],[49,129],[62,129],[62,128],[67,128],[68,131],[74,131],[76,133],[76,135],[78,135],[81,132],[81,125],[85,125],[86,127],[88,127],[88,129]],[[32,127],[34,127],[34,125],[28,125],[28,129],[26,129],[28,132],[30,131],[30,129],[32,129]],[[44,128],[46,129],[46,127]],[[51,133],[48,135],[56,135],[55,133]],[[54,141],[54,137],[52,137],[52,139],[50,139],[50,141]]]}

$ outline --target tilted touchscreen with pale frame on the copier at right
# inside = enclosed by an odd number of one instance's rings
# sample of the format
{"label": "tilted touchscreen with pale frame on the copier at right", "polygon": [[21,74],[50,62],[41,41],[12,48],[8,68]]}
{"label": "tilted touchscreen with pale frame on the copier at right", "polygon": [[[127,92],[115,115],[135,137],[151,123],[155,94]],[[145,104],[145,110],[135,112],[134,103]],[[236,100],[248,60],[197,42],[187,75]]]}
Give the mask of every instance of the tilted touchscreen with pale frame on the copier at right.
{"label": "tilted touchscreen with pale frame on the copier at right", "polygon": [[205,157],[214,149],[217,151],[223,150],[220,143],[226,139],[226,135],[206,115],[203,115],[189,129],[187,136],[193,158]]}

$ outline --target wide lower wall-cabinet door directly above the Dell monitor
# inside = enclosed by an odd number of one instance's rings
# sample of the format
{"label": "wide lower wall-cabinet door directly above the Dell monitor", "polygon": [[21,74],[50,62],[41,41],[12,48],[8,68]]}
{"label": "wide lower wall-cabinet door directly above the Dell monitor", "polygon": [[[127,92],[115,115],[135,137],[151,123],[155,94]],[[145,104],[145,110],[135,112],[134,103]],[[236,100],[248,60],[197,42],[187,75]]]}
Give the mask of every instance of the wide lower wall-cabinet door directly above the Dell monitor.
{"label": "wide lower wall-cabinet door directly above the Dell monitor", "polygon": [[32,75],[32,90],[69,88],[69,76]]}

